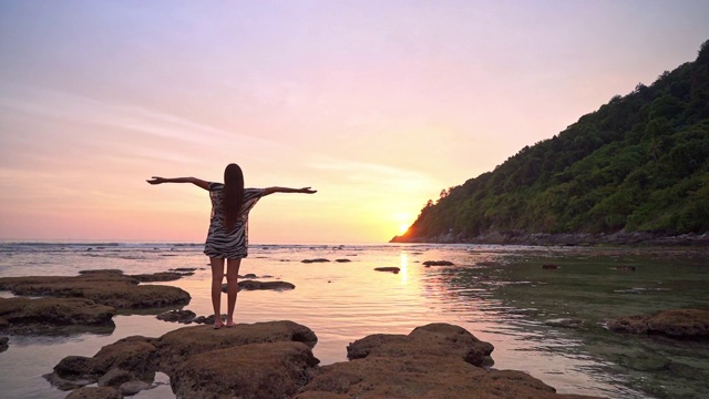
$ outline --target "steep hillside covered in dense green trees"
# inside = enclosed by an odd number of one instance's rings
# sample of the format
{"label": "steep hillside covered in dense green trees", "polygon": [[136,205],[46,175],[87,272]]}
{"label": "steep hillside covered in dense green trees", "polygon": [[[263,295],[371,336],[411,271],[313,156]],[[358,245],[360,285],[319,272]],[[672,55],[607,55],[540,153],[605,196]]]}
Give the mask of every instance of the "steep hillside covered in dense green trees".
{"label": "steep hillside covered in dense green trees", "polygon": [[443,191],[400,238],[505,231],[709,231],[709,41],[695,62]]}

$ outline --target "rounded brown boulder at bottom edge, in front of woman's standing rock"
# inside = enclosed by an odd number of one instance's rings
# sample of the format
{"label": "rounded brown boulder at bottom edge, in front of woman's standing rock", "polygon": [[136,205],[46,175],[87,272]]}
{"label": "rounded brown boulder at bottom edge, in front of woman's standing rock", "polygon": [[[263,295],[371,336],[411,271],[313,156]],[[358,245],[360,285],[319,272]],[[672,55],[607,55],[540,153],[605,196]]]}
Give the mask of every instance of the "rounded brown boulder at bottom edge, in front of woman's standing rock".
{"label": "rounded brown boulder at bottom edge, in front of woman's standing rock", "polygon": [[171,385],[178,398],[289,398],[318,362],[302,342],[248,344],[188,358]]}

